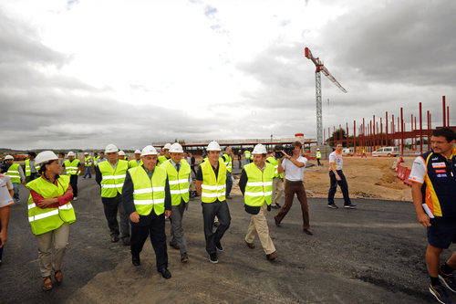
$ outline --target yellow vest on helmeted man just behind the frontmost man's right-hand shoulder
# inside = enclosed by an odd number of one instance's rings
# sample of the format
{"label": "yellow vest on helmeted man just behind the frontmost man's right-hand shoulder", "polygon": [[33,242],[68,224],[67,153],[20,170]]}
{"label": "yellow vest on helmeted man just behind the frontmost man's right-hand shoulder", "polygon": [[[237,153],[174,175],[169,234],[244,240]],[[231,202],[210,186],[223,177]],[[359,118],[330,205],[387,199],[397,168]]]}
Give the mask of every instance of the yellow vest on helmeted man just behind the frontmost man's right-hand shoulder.
{"label": "yellow vest on helmeted man just behind the frontmost man's right-hand shoulder", "polygon": [[180,163],[181,167],[179,168],[179,172],[177,172],[176,168],[171,163],[171,160],[163,162],[161,165],[161,168],[165,169],[168,174],[172,205],[181,204],[181,200],[188,203],[190,199],[189,176],[192,169],[187,161],[181,160]]}

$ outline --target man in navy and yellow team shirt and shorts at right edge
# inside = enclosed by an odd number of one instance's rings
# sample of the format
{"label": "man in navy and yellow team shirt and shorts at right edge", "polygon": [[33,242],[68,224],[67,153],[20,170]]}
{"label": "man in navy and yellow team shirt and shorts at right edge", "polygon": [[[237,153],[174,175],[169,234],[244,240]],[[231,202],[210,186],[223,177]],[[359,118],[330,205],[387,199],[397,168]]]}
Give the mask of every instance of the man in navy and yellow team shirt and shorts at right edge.
{"label": "man in navy and yellow team shirt and shorts at right edge", "polygon": [[[453,271],[456,253],[440,265],[440,254],[456,243],[456,132],[450,128],[432,131],[432,150],[413,162],[409,180],[418,216],[428,234],[426,266],[430,276],[430,293],[440,303],[453,303],[447,289],[456,293]],[[443,284],[443,285],[442,285]],[[445,287],[443,287],[445,286]]]}

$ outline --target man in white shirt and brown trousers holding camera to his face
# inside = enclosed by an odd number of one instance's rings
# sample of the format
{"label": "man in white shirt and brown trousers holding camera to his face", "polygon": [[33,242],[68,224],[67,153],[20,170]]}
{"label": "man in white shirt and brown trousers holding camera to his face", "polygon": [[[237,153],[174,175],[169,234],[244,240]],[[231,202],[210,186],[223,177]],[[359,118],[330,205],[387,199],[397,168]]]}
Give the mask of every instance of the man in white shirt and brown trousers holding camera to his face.
{"label": "man in white shirt and brown trousers holding camera to his face", "polygon": [[[297,200],[301,204],[301,212],[303,213],[303,231],[307,235],[313,235],[309,225],[309,207],[307,204],[306,190],[304,189],[304,170],[306,168],[307,159],[301,156],[301,142],[293,142],[293,155],[290,156],[284,151],[284,156],[279,159],[278,173],[285,172],[285,204],[280,208],[275,215],[275,225],[280,227],[280,223],[285,215],[290,211],[293,204],[295,194]],[[285,159],[284,159],[285,158]]]}

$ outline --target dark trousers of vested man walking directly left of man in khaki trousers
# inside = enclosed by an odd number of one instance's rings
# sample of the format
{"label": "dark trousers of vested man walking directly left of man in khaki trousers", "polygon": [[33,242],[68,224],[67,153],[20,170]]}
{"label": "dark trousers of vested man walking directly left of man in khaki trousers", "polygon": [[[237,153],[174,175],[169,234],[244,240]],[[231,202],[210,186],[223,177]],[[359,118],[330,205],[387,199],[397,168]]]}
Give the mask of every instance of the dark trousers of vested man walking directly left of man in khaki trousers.
{"label": "dark trousers of vested man walking directly left of man in khaki trousers", "polygon": [[[213,219],[217,215],[219,226],[213,232]],[[231,215],[226,201],[202,203],[202,219],[204,221],[204,236],[206,237],[206,251],[208,254],[216,253],[216,243],[220,242],[225,231],[230,227]]]}

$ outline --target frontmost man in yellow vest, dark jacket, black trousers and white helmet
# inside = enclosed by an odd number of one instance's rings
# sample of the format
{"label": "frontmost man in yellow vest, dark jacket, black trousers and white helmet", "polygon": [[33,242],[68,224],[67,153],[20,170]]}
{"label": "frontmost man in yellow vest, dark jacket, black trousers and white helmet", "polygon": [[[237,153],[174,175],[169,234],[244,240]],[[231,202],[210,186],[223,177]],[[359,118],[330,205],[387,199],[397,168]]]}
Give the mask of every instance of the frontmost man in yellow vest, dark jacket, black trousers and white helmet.
{"label": "frontmost man in yellow vest, dark jacket, black trousers and white helmet", "polygon": [[165,215],[172,215],[170,183],[166,170],[156,165],[153,146],[144,147],[141,158],[143,164],[127,172],[122,190],[122,202],[131,221],[131,262],[140,266],[140,252],[150,236],[157,270],[163,278],[171,278],[165,234]]}

